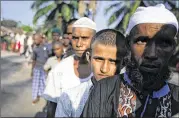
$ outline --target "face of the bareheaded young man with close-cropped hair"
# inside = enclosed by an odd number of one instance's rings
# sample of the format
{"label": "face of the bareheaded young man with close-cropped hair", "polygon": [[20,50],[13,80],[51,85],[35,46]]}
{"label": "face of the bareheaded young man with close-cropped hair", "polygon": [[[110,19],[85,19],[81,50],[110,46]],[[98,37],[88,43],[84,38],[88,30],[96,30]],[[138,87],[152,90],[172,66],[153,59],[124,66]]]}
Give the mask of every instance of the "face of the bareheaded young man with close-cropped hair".
{"label": "face of the bareheaded young man with close-cropped hair", "polygon": [[97,81],[113,76],[116,73],[117,48],[99,43],[93,45],[91,54],[91,69]]}

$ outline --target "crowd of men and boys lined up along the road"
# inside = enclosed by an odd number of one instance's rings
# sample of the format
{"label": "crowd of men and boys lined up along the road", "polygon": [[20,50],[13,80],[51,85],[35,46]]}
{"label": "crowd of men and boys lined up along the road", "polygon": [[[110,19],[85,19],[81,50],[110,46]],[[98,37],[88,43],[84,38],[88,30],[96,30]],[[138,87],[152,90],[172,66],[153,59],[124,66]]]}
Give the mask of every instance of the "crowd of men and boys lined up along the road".
{"label": "crowd of men and boys lined up along the road", "polygon": [[177,34],[176,16],[158,4],[138,7],[125,34],[97,32],[82,17],[63,35],[54,28],[51,43],[35,33],[25,48],[20,33],[14,47],[32,61],[32,103],[44,98],[47,117],[173,117],[179,85],[169,82],[168,64]]}

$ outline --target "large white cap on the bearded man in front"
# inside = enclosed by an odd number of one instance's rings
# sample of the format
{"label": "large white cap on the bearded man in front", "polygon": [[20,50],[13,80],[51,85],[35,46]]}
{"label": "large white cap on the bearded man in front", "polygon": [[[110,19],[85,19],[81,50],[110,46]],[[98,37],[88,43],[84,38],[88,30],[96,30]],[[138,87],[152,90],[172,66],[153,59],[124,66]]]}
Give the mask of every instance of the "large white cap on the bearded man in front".
{"label": "large white cap on the bearded man in front", "polygon": [[166,9],[163,4],[149,7],[138,7],[129,20],[125,35],[129,35],[132,28],[141,23],[172,24],[178,31],[178,21],[175,15]]}

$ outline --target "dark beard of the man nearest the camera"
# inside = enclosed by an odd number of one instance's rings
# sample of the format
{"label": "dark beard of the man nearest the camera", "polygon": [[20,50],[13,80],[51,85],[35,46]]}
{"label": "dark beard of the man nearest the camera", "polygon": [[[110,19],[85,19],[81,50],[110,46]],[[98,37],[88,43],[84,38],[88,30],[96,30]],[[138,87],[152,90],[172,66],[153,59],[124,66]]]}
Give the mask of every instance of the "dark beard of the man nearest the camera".
{"label": "dark beard of the man nearest the camera", "polygon": [[165,81],[170,79],[171,71],[167,65],[158,73],[148,73],[139,70],[135,60],[131,58],[131,54],[124,58],[124,62],[131,85],[138,92],[147,91],[151,93],[157,91],[162,88]]}

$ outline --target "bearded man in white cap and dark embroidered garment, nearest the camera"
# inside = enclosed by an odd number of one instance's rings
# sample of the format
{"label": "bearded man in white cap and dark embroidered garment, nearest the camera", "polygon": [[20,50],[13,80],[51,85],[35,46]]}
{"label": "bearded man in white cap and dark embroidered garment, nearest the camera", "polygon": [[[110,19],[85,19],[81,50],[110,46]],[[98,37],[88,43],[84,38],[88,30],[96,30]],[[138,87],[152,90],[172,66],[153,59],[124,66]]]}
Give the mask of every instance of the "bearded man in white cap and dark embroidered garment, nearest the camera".
{"label": "bearded man in white cap and dark embroidered garment, nearest the camera", "polygon": [[163,4],[139,7],[126,31],[126,72],[97,82],[81,117],[172,117],[179,87],[168,83],[178,22]]}

